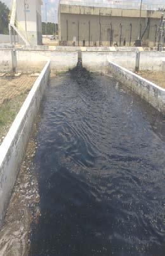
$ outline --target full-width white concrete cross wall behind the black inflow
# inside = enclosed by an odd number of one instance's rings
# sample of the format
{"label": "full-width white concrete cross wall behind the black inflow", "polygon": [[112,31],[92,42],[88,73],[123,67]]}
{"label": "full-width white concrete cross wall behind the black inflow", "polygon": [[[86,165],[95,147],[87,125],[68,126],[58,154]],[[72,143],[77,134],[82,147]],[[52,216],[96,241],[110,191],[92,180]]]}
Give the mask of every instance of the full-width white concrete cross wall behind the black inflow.
{"label": "full-width white concrete cross wall behind the black inflow", "polygon": [[[91,72],[108,72],[108,62],[115,62],[130,71],[135,71],[136,49],[128,51],[109,51],[109,48],[72,48],[53,47],[55,50],[48,50],[48,46],[31,46],[17,49],[17,71],[32,73],[39,72],[44,63],[51,60],[53,72],[68,71],[76,67],[78,50],[82,50],[82,64]],[[162,71],[164,69],[165,52],[140,51],[140,70]],[[0,72],[12,71],[11,50],[0,49]]]}

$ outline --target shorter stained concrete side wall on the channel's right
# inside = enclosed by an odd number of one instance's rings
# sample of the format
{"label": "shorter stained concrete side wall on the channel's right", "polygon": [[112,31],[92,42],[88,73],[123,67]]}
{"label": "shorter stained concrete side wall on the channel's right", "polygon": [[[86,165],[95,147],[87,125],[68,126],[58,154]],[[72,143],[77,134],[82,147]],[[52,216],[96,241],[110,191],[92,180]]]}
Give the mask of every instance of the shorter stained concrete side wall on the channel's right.
{"label": "shorter stained concrete side wall on the channel's right", "polygon": [[109,71],[117,81],[125,84],[165,115],[165,89],[113,62],[109,62]]}

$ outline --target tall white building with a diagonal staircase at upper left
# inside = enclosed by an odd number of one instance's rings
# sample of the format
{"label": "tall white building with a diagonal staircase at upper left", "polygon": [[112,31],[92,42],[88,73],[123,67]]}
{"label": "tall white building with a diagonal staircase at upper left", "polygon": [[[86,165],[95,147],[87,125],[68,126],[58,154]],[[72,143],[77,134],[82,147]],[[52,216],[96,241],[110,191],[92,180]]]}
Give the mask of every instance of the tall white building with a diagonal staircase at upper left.
{"label": "tall white building with a diagonal staircase at upper left", "polygon": [[11,1],[11,43],[42,44],[41,0]]}

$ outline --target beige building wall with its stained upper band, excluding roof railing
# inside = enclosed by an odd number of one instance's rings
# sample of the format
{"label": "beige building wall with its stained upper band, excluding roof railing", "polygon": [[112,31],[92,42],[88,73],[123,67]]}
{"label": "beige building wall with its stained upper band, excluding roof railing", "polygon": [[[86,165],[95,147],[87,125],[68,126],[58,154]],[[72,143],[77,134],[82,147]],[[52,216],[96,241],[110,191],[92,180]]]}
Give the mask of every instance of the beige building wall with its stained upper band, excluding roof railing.
{"label": "beige building wall with its stained upper band, excluding roof railing", "polygon": [[[156,27],[159,27],[161,19],[161,11],[142,11],[142,33],[150,18],[149,27],[143,37],[143,45],[154,46]],[[89,25],[90,23],[90,25]],[[130,37],[131,45],[139,36],[139,11],[138,10],[122,10],[115,8],[97,8],[90,6],[73,6],[69,4],[61,4],[58,13],[59,38],[62,42],[68,42],[72,45],[82,46],[122,46],[124,39],[126,46],[129,46]],[[110,26],[112,24],[112,27]],[[122,24],[122,32],[121,32]],[[131,26],[132,25],[132,32]],[[110,35],[112,33],[112,42],[110,43]],[[157,36],[156,36],[157,37]],[[157,38],[156,38],[157,41]]]}

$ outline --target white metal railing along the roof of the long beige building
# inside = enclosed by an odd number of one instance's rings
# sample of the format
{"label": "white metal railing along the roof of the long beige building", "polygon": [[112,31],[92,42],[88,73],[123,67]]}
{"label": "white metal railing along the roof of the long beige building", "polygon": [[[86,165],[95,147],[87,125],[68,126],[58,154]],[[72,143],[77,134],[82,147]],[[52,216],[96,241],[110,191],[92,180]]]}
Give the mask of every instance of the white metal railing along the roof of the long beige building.
{"label": "white metal railing along the roof of the long beige building", "polygon": [[[131,9],[139,10],[140,1],[108,1],[108,0],[61,0],[60,4],[74,5],[74,6],[93,6],[93,7],[105,7],[105,8],[117,8],[117,9]],[[165,4],[142,4],[142,10],[152,11],[165,11]]]}

